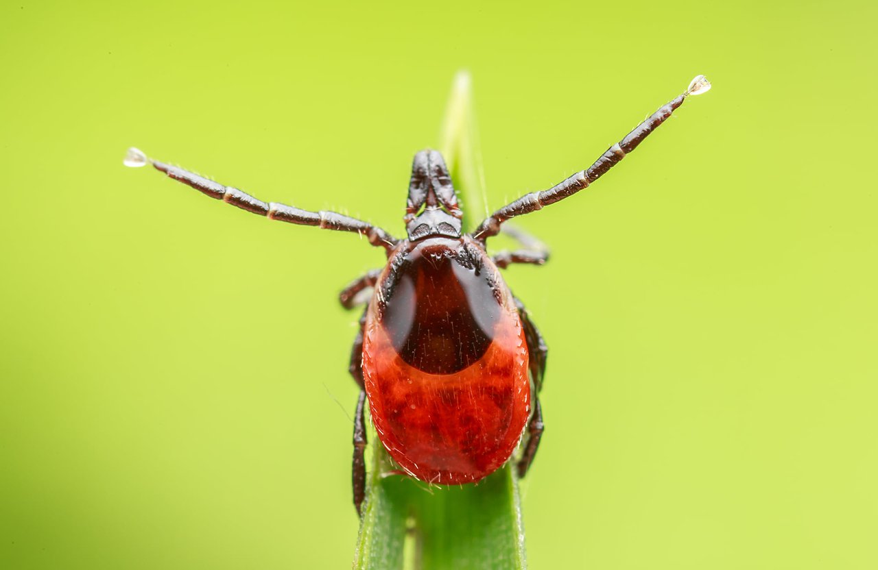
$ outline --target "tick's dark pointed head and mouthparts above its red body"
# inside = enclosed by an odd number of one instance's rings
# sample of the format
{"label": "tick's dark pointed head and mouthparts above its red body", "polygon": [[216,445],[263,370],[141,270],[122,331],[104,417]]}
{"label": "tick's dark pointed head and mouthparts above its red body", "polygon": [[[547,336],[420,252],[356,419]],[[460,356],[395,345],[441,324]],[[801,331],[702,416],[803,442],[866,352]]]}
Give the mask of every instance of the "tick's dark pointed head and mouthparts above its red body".
{"label": "tick's dark pointed head and mouthparts above its red body", "polygon": [[434,150],[415,154],[403,218],[408,239],[459,238],[463,215],[442,154]]}

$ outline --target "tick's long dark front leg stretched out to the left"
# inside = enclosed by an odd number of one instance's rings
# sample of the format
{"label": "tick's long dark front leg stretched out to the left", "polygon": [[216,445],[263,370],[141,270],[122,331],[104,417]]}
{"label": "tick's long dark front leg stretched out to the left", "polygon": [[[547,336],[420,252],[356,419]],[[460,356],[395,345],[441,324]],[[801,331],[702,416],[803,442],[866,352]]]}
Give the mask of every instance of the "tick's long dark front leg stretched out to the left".
{"label": "tick's long dark front leg stretched out to the left", "polygon": [[[129,151],[129,153],[133,153],[133,151],[134,149]],[[140,151],[137,151],[137,153],[140,153]],[[255,196],[250,196],[239,189],[232,188],[231,186],[224,186],[219,184],[219,182],[213,182],[204,176],[197,175],[180,167],[164,164],[158,160],[147,159],[142,153],[140,153],[140,156],[143,160],[148,160],[156,170],[169,175],[169,177],[174,180],[188,184],[207,196],[230,203],[233,206],[241,208],[241,210],[247,210],[254,214],[268,217],[269,219],[281,220],[282,222],[289,222],[290,224],[316,225],[325,230],[356,232],[369,239],[371,245],[384,247],[388,253],[390,253],[390,250],[398,241],[381,228],[354,217],[344,216],[334,211],[313,212],[300,210],[299,208],[288,206],[283,203],[265,203]]]}

